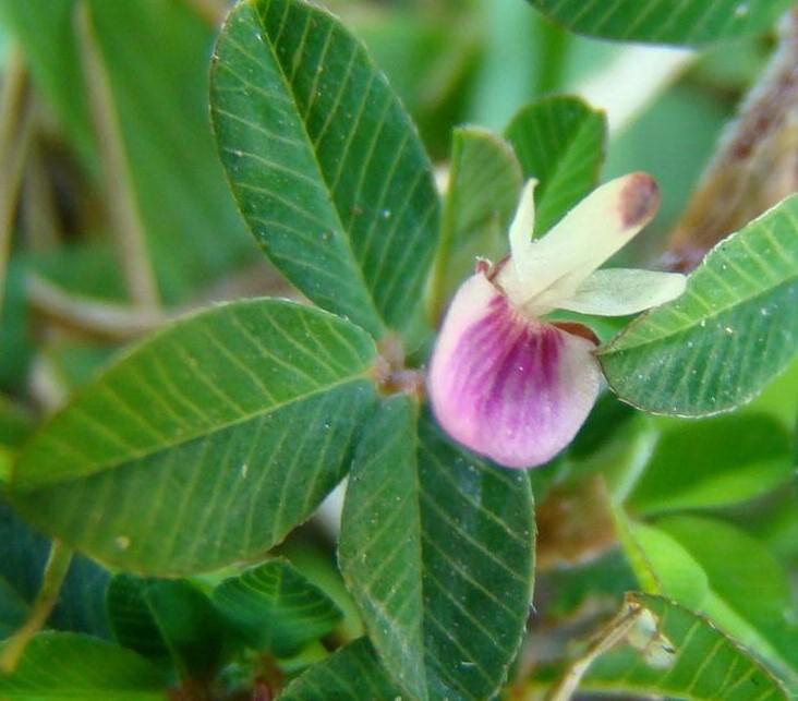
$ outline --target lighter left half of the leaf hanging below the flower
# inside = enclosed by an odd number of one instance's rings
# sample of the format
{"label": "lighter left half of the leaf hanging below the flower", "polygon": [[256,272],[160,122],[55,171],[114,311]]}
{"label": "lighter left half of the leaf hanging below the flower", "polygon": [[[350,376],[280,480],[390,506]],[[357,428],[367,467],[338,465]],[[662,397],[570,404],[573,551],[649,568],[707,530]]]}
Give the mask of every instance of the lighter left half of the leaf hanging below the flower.
{"label": "lighter left half of the leaf hanging below the flower", "polygon": [[427,698],[418,406],[389,399],[364,430],[349,475],[338,561],[383,664]]}

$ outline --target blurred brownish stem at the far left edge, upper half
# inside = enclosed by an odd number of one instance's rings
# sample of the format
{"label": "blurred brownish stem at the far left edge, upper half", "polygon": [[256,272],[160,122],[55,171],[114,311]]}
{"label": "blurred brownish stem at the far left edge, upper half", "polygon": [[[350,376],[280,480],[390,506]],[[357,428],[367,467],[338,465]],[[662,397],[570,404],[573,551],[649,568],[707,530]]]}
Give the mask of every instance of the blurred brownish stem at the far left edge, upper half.
{"label": "blurred brownish stem at the far left edge, upper half", "polygon": [[0,310],[17,194],[31,141],[31,116],[27,72],[20,49],[12,47],[0,95]]}

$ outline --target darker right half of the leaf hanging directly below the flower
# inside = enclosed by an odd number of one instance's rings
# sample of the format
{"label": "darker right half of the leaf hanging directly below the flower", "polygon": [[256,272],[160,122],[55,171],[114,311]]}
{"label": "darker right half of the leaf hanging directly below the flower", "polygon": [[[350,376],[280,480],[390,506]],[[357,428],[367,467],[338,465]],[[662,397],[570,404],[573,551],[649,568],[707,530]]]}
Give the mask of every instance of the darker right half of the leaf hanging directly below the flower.
{"label": "darker right half of the leaf hanging directly below the flower", "polygon": [[419,422],[425,655],[431,698],[489,698],[521,643],[534,583],[534,507],[523,472]]}

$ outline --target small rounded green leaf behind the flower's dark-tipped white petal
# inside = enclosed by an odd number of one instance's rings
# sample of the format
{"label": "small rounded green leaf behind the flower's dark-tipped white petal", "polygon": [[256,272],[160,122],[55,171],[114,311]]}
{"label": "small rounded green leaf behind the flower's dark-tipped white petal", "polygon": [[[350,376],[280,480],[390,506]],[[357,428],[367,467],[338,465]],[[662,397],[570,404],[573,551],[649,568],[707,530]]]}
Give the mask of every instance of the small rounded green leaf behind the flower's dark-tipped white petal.
{"label": "small rounded green leaf behind the flower's dark-tipped white petal", "polygon": [[604,161],[604,112],[568,96],[546,97],[519,111],[505,130],[524,178],[536,178],[535,235],[548,231],[588,194]]}

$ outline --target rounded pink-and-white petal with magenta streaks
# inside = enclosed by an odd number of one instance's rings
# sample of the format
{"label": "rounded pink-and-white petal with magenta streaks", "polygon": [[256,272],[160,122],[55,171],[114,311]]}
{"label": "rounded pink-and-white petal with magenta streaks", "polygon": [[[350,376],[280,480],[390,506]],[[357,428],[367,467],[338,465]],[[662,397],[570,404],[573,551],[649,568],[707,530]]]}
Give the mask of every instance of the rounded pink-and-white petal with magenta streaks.
{"label": "rounded pink-and-white petal with magenta streaks", "polygon": [[508,468],[552,459],[590,412],[601,371],[593,342],[517,312],[482,274],[455,297],[427,379],[457,442]]}

